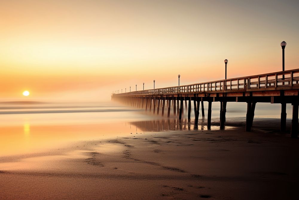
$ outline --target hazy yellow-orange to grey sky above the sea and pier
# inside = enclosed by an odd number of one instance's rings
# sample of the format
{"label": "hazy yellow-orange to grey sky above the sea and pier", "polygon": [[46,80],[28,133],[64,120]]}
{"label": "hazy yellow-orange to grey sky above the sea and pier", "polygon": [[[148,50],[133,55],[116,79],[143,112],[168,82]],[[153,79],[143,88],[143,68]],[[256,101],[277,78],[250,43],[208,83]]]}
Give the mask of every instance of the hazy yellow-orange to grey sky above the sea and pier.
{"label": "hazy yellow-orange to grey sky above the sea and pier", "polygon": [[[299,68],[298,1],[0,1],[0,101],[106,101]],[[30,95],[22,95],[24,90]]]}

